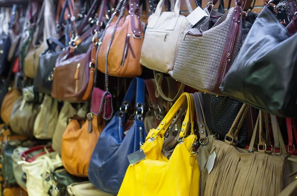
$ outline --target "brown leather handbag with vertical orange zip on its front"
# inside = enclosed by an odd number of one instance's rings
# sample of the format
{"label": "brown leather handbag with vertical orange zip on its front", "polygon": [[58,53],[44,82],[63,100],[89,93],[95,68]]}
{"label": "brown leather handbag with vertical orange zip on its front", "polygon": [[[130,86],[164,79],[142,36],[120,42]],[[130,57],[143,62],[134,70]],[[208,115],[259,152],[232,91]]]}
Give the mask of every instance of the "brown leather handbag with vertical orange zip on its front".
{"label": "brown leather handbag with vertical orange zip on its front", "polygon": [[70,46],[56,60],[52,77],[51,96],[70,103],[91,98],[94,83],[94,67],[90,63],[91,45],[88,52],[75,55]]}

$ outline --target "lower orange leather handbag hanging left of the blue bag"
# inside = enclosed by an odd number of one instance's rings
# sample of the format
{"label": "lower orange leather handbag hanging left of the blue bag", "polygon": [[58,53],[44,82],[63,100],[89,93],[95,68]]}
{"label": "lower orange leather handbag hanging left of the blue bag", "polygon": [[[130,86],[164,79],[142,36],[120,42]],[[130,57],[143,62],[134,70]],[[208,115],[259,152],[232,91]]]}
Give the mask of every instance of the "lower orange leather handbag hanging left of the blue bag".
{"label": "lower orange leather handbag hanging left of the blue bag", "polygon": [[103,119],[92,113],[87,114],[87,120],[70,118],[62,138],[61,155],[63,166],[70,174],[88,177],[89,163],[103,128]]}

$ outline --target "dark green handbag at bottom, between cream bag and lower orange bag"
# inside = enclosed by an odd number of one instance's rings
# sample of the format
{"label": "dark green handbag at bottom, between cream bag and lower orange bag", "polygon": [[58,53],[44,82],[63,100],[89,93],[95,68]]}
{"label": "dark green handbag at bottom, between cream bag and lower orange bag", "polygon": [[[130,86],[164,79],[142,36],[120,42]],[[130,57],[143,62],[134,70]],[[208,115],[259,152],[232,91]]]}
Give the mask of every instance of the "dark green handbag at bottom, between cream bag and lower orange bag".
{"label": "dark green handbag at bottom, between cream bag and lower orange bag", "polygon": [[72,183],[85,182],[88,180],[69,174],[63,166],[56,167],[51,171],[51,179],[55,183],[52,185],[52,196],[70,196],[67,192],[67,186]]}

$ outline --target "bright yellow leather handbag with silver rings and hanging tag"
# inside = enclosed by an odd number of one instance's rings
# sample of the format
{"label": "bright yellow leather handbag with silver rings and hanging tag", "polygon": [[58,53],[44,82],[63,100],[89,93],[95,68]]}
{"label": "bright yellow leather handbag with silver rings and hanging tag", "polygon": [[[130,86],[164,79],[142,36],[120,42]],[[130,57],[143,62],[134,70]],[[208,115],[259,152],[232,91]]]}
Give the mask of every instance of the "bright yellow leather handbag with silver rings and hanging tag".
{"label": "bright yellow leather handbag with silver rings and hanging tag", "polygon": [[[179,144],[168,160],[162,155],[164,135],[173,118],[187,101],[188,109],[179,134]],[[198,196],[200,171],[193,144],[194,103],[189,93],[183,93],[156,129],[151,129],[141,147],[146,158],[129,165],[118,196]],[[187,136],[187,130],[191,134]],[[186,137],[187,136],[187,137]]]}

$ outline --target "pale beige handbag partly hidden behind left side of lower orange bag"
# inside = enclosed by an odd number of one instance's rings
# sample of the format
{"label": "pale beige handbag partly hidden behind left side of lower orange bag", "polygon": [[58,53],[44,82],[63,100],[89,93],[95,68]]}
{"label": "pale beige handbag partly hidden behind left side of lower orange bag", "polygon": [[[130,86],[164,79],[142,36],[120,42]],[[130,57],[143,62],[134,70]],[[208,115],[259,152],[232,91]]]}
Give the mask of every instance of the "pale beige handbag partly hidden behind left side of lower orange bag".
{"label": "pale beige handbag partly hidden behind left side of lower orange bag", "polygon": [[74,117],[75,115],[85,117],[88,112],[86,108],[87,106],[88,104],[84,104],[82,107],[81,104],[75,104],[74,107],[71,103],[64,102],[64,105],[59,113],[51,144],[52,149],[58,152],[59,155],[61,155],[62,137],[67,127],[68,119]]}

